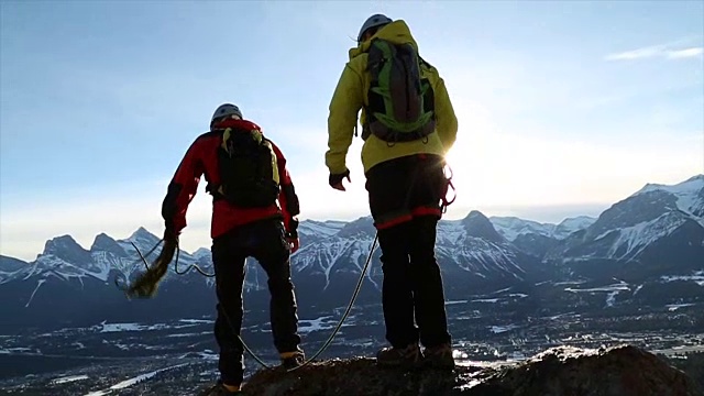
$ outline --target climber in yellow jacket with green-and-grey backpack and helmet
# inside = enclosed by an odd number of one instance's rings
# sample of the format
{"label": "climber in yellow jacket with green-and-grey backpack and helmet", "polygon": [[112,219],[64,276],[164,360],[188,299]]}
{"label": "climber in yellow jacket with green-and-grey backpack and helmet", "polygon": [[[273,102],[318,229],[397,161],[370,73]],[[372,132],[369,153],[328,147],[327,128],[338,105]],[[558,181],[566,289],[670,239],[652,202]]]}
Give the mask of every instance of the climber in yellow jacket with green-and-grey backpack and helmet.
{"label": "climber in yellow jacket with green-and-grey backpack and helmet", "polygon": [[330,102],[326,165],[330,186],[342,191],[343,179],[351,182],[345,160],[360,110],[391,343],[377,362],[454,367],[435,241],[449,185],[444,155],[458,120],[443,79],[418,55],[403,20],[375,14],[364,22]]}

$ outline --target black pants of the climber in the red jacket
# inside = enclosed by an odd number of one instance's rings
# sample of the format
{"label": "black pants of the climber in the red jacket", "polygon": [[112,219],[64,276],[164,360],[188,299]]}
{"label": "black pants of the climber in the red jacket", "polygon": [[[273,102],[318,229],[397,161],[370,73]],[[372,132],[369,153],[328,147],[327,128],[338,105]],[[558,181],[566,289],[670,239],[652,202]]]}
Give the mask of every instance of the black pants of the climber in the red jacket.
{"label": "black pants of the climber in the red jacket", "polygon": [[244,374],[242,286],[245,260],[254,257],[268,276],[274,345],[279,353],[296,351],[300,343],[296,296],[290,280],[289,250],[279,219],[267,219],[218,237],[212,243],[218,317],[215,336],[220,348],[220,375],[227,384],[240,384]]}

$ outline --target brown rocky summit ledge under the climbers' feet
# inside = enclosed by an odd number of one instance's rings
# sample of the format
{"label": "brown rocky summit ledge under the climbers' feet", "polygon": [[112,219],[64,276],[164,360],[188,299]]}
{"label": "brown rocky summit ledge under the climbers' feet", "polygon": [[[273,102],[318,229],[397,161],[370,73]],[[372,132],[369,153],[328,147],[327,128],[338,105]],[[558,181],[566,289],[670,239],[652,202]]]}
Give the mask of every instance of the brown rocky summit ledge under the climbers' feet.
{"label": "brown rocky summit ledge under the climbers' feet", "polygon": [[702,396],[683,372],[638,348],[557,346],[516,363],[459,364],[454,371],[380,369],[374,359],[263,370],[244,395]]}

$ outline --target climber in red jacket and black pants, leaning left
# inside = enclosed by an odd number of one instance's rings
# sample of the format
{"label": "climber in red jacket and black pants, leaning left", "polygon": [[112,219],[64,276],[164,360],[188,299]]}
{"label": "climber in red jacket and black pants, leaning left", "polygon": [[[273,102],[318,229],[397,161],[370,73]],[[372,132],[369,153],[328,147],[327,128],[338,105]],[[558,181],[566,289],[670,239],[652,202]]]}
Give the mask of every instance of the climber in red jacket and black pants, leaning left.
{"label": "climber in red jacket and black pants, leaning left", "polygon": [[213,196],[212,264],[218,298],[215,337],[220,348],[220,380],[208,395],[230,395],[243,380],[242,286],[248,256],[268,276],[274,344],[285,367],[302,363],[298,317],[290,280],[290,254],[298,250],[298,197],[282,151],[254,122],[230,103],[218,107],[210,131],[184,156],[162,206],[165,239],[178,239],[186,210],[205,175]]}

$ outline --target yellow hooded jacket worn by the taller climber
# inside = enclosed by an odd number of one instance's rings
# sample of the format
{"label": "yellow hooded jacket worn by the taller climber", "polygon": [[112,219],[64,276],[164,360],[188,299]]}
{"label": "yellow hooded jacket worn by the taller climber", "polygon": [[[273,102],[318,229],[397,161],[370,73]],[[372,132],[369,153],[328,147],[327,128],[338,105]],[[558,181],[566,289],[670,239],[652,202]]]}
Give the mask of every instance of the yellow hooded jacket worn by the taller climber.
{"label": "yellow hooded jacket worn by the taller climber", "polygon": [[[410,43],[418,50],[418,44],[403,20],[385,25],[373,37],[399,44]],[[362,109],[361,122],[364,124],[364,107],[369,106],[366,92],[370,88],[370,74],[366,72],[366,62],[370,43],[371,40],[367,40],[350,50],[350,61],[342,70],[330,101],[326,165],[331,174],[341,174],[348,169],[345,158],[348,148],[352,144],[360,109]],[[458,132],[458,119],[444,81],[435,67],[426,65],[421,65],[421,77],[428,78],[433,89],[436,132],[428,135],[427,141],[399,142],[391,147],[381,139],[370,135],[362,146],[364,173],[384,161],[420,153],[444,155],[452,147]]]}

